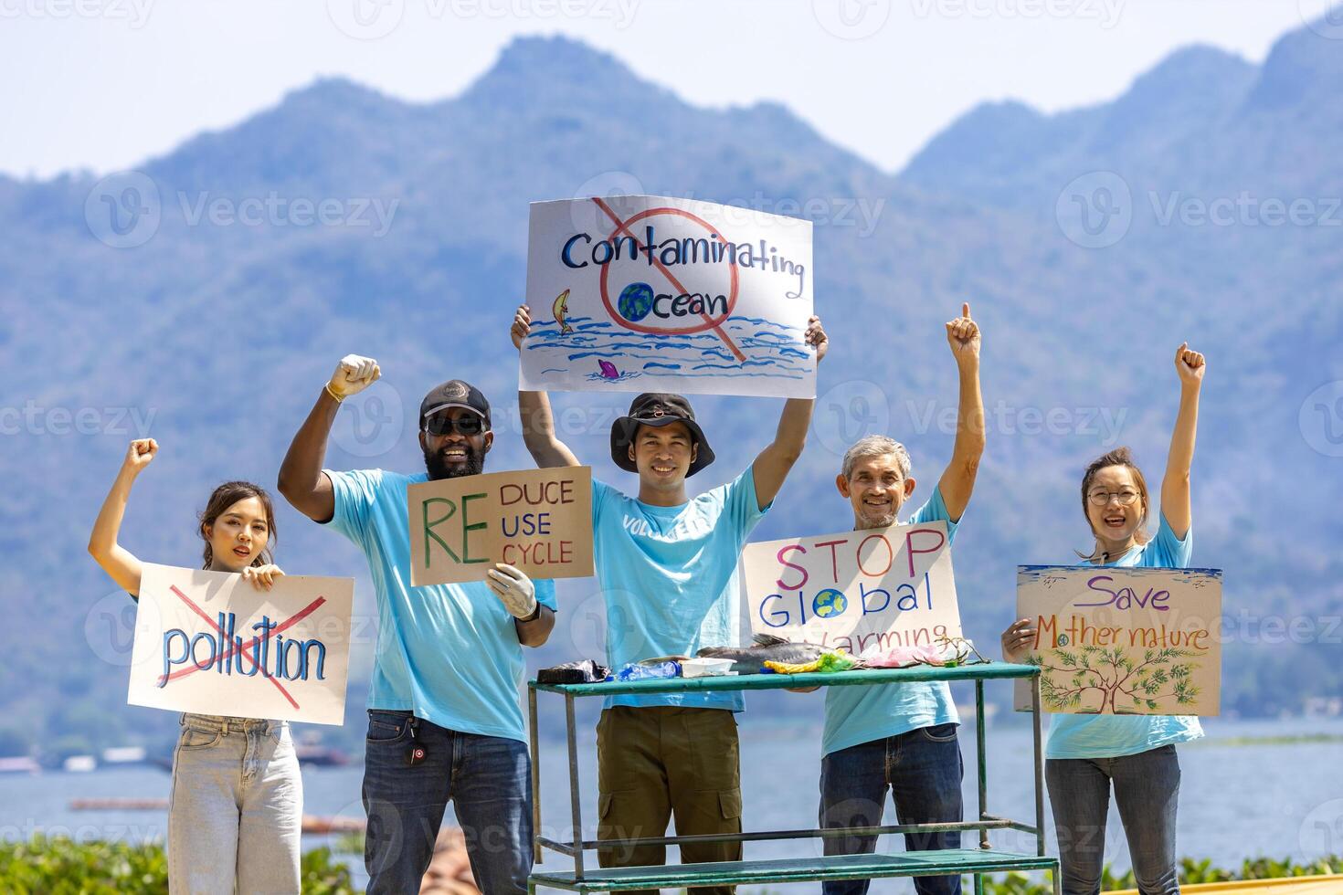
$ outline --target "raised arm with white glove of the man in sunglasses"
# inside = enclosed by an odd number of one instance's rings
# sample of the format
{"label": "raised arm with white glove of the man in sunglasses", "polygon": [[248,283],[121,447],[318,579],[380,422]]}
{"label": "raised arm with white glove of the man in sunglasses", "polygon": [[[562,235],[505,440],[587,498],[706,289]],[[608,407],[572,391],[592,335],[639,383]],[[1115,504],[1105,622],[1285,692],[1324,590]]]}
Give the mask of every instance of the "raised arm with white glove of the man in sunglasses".
{"label": "raised arm with white glove of the man in sunglasses", "polygon": [[295,510],[316,522],[329,522],[336,514],[336,494],[332,480],[322,472],[326,458],[326,436],[340,404],[356,394],[381,376],[377,361],[359,354],[346,354],[336,365],[330,381],[322,386],[317,404],[308,413],[294,440],[289,444],[285,462],[279,464],[279,479],[275,487]]}

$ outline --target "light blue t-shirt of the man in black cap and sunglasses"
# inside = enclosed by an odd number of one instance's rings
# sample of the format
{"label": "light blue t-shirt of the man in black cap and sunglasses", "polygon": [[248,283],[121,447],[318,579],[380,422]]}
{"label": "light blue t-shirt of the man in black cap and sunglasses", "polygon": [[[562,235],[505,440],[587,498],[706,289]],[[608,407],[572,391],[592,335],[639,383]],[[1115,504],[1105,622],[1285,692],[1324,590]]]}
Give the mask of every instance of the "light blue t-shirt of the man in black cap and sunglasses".
{"label": "light blue t-shirt of the man in black cap and sunglasses", "polygon": [[[483,581],[411,586],[406,487],[428,475],[325,471],[336,494],[329,525],[368,557],[377,592],[377,656],[369,708],[412,711],[439,727],[525,741],[525,663],[513,616]],[[536,581],[555,609],[555,582]]]}

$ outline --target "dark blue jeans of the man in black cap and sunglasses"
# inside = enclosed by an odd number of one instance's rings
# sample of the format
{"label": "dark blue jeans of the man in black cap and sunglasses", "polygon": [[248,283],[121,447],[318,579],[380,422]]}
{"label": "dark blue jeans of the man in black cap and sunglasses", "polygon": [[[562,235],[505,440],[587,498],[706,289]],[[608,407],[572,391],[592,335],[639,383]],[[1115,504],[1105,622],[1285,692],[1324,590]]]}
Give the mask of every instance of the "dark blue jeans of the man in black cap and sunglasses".
{"label": "dark blue jeans of the man in black cap and sunglasses", "polygon": [[[412,746],[424,757],[410,764]],[[532,872],[532,764],[526,746],[439,727],[408,711],[369,710],[364,754],[368,895],[418,892],[449,800],[482,892],[526,892]]]}

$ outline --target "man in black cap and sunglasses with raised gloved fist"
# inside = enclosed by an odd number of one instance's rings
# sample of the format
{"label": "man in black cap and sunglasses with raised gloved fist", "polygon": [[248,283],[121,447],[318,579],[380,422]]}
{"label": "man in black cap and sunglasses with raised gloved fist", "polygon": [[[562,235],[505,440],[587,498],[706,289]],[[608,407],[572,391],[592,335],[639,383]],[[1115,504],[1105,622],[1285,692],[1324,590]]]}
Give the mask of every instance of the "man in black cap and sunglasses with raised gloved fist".
{"label": "man in black cap and sunglasses with raised gloved fist", "polygon": [[368,892],[419,891],[450,800],[477,887],[525,892],[532,790],[518,704],[522,647],[541,645],[555,627],[555,585],[498,564],[488,588],[411,586],[406,488],[479,474],[494,443],[490,405],[461,380],[424,396],[427,472],[322,470],[341,401],[377,377],[373,360],[342,358],[279,470],[279,491],[295,509],[364,550],[377,592],[363,793]]}

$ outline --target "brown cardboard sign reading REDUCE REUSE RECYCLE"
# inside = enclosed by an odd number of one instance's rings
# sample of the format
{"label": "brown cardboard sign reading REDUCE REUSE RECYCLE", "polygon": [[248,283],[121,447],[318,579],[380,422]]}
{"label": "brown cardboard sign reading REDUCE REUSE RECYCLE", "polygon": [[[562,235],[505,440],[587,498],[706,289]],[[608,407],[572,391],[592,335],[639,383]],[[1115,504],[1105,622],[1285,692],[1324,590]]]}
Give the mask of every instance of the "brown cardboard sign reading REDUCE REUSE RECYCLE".
{"label": "brown cardboard sign reading REDUCE REUSE RECYCLE", "polygon": [[496,562],[533,578],[592,574],[592,468],[422,482],[410,498],[411,584],[483,581]]}

